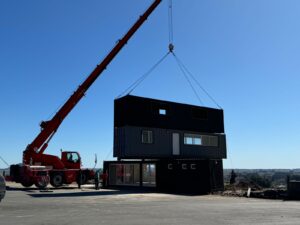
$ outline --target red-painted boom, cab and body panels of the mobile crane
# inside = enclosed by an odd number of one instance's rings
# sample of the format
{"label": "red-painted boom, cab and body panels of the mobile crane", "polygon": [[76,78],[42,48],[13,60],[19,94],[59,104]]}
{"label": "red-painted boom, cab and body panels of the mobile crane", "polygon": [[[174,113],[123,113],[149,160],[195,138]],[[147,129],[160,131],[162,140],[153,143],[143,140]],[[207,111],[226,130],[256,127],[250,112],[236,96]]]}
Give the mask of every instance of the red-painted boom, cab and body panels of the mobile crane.
{"label": "red-painted boom, cab and body panels of the mobile crane", "polygon": [[[114,57],[119,53],[119,51],[126,45],[129,39],[134,35],[134,33],[139,29],[139,27],[147,20],[148,16],[155,10],[155,8],[162,2],[162,0],[154,0],[150,7],[144,12],[142,16],[134,23],[134,25],[129,29],[125,36],[120,39],[120,41],[115,45],[115,47],[110,51],[110,53],[103,59],[103,61],[96,66],[96,68],[91,72],[91,74],[85,79],[85,81],[77,88],[77,90],[70,96],[70,98],[64,103],[64,105],[57,111],[53,118],[49,121],[43,121],[40,133],[36,138],[29,144],[25,151],[23,152],[23,164],[28,165],[40,165],[51,168],[49,170],[50,179],[51,174],[56,176],[56,180],[61,179],[60,174],[64,175],[64,182],[71,183],[78,177],[78,171],[81,171],[81,159],[77,152],[62,152],[61,159],[57,156],[44,154],[49,141],[58,130],[59,126],[63,120],[68,116],[68,114],[73,110],[77,103],[85,95],[89,87],[95,82],[95,80],[102,74],[109,63],[114,59]],[[77,154],[78,160],[68,159],[68,154]],[[14,169],[16,170],[16,169]],[[93,171],[86,171],[87,174],[93,175]],[[30,173],[28,173],[30,174]],[[54,182],[53,181],[53,182]],[[60,181],[60,180],[59,180]],[[32,181],[28,179],[26,184],[31,184]],[[52,183],[51,183],[52,184]]]}

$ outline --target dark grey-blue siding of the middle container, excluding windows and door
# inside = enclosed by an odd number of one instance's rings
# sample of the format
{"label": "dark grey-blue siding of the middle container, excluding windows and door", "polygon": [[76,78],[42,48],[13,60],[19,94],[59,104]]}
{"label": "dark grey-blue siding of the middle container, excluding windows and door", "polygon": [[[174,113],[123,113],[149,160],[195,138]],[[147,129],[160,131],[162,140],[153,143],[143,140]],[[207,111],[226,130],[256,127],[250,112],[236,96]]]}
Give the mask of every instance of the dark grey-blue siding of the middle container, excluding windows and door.
{"label": "dark grey-blue siding of the middle container, excluding windows and door", "polygon": [[[143,144],[141,134],[143,130],[151,130],[153,144]],[[180,155],[173,155],[172,134],[179,133]],[[185,145],[184,134],[193,133],[182,130],[168,130],[149,127],[125,126],[115,128],[114,157],[120,159],[159,159],[159,158],[201,158],[222,159],[226,158],[226,138],[224,134],[215,135],[219,139],[217,147]],[[195,133],[195,132],[194,132]],[[195,133],[207,135],[207,133]],[[117,138],[116,138],[117,137]]]}

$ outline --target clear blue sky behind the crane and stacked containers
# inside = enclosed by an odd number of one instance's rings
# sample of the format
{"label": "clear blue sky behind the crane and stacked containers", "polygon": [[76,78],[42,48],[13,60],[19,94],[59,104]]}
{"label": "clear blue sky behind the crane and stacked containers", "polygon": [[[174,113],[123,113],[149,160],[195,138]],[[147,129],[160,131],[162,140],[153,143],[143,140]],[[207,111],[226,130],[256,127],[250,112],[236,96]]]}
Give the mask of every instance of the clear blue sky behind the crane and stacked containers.
{"label": "clear blue sky behind the crane and stacked containers", "polygon": [[[0,2],[0,155],[8,163],[21,162],[39,122],[151,2]],[[167,3],[90,88],[47,153],[79,151],[86,167],[95,153],[99,161],[112,159],[113,100],[167,52]],[[175,52],[225,112],[225,168],[299,168],[300,2],[173,0],[173,7]],[[199,104],[172,57],[133,94]]]}

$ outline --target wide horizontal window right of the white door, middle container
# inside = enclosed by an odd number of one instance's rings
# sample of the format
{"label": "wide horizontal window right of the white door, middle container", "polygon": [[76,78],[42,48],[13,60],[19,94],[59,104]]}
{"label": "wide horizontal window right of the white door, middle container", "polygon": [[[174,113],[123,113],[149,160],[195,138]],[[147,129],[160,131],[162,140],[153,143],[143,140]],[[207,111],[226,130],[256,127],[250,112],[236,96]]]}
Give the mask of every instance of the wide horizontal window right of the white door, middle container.
{"label": "wide horizontal window right of the white door, middle container", "polygon": [[218,136],[199,135],[199,134],[184,134],[185,145],[202,145],[218,147]]}

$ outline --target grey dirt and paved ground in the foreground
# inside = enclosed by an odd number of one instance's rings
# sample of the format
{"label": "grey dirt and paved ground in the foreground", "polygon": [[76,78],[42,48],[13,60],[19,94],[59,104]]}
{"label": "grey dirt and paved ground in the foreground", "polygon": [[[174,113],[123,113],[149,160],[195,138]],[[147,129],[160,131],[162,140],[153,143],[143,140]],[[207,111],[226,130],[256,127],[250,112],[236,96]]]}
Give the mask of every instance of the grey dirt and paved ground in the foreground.
{"label": "grey dirt and paved ground in the foreground", "polygon": [[3,225],[299,224],[300,202],[64,188],[40,192],[8,184]]}

